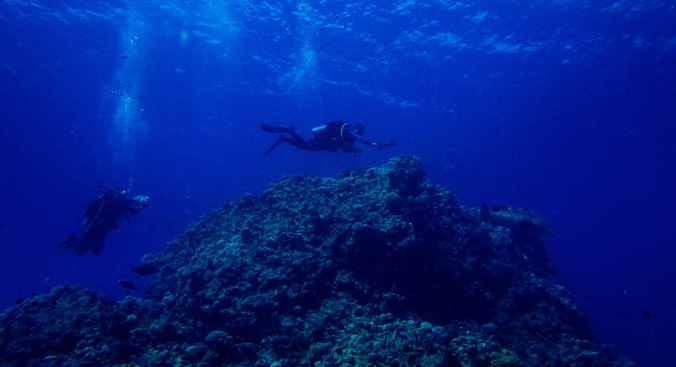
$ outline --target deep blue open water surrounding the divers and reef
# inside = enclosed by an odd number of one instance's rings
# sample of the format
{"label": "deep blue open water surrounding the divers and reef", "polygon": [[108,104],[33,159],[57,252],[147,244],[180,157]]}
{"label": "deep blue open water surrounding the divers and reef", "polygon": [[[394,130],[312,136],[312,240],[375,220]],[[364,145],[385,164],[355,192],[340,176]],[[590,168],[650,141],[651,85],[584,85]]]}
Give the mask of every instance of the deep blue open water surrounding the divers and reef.
{"label": "deep blue open water surrounding the divers and reef", "polygon": [[[224,201],[283,175],[418,155],[472,206],[547,217],[558,279],[599,340],[671,366],[676,5],[617,1],[0,2],[0,307],[118,279]],[[280,146],[362,122],[395,148]],[[99,257],[56,244],[99,186],[151,206]],[[647,317],[649,315],[650,317]]]}

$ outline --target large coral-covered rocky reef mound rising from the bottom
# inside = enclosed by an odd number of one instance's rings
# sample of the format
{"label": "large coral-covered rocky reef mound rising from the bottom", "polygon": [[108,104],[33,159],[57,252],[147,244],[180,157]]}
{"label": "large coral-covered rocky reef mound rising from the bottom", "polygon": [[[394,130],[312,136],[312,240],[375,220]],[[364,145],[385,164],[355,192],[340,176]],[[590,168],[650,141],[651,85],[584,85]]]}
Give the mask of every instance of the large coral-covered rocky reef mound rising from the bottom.
{"label": "large coral-covered rocky reef mound rising from the bottom", "polygon": [[142,297],[55,288],[0,316],[1,366],[624,366],[535,237],[415,157],[286,177],[143,263]]}

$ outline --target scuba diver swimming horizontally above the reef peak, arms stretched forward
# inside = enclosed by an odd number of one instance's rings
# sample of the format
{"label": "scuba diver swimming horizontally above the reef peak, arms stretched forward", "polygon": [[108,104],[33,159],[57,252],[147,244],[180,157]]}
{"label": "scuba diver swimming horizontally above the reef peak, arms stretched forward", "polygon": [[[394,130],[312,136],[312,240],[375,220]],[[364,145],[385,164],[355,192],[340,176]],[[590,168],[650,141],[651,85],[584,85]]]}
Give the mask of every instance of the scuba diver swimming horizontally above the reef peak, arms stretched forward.
{"label": "scuba diver swimming horizontally above the reef peak, arms stretched forward", "polygon": [[[313,137],[310,140],[303,139],[296,129],[291,126],[273,126],[268,124],[261,124],[261,129],[269,133],[279,133],[277,140],[270,146],[270,148],[263,153],[266,156],[272,152],[280,143],[288,143],[296,148],[308,151],[327,150],[329,152],[337,152],[342,150],[347,153],[361,153],[363,148],[355,148],[355,142],[370,145],[378,149],[388,146],[394,146],[394,141],[389,143],[372,142],[362,138],[364,135],[364,125],[356,124],[354,127],[350,126],[343,120],[331,121],[321,126],[312,129]],[[286,136],[284,134],[289,134]]]}

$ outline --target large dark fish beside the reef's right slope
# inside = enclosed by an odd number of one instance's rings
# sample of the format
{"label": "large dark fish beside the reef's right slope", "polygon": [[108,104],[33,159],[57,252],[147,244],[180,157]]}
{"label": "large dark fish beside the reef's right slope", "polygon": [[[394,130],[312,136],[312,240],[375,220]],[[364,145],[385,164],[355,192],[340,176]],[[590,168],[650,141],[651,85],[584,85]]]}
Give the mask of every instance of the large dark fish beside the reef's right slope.
{"label": "large dark fish beside the reef's right slope", "polygon": [[551,224],[542,216],[524,208],[496,206],[490,209],[484,204],[481,206],[481,221],[535,237],[554,235]]}

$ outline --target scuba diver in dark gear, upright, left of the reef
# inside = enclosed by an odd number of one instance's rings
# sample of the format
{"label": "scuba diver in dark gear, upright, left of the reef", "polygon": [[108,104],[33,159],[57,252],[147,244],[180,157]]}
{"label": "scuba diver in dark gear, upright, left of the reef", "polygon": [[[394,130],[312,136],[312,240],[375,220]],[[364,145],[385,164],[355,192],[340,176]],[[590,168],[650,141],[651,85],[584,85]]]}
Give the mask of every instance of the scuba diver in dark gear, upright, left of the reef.
{"label": "scuba diver in dark gear, upright, left of the reef", "polygon": [[150,197],[138,195],[129,198],[128,192],[118,186],[103,192],[90,202],[84,210],[84,230],[80,240],[78,241],[75,233],[71,233],[59,247],[72,247],[78,255],[84,255],[90,250],[94,255],[100,254],[106,233],[119,228],[117,221],[122,217],[129,219],[129,215],[137,214],[150,203]]}

